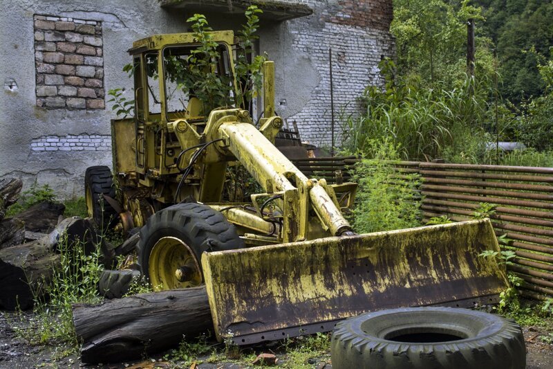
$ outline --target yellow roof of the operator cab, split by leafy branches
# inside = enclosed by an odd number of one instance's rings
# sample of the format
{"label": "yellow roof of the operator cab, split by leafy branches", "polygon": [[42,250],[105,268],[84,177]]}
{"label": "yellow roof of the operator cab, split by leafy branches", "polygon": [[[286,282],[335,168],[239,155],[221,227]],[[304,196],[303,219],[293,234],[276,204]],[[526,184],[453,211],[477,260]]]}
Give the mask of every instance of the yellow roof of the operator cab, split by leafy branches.
{"label": "yellow roof of the operator cab, split by leafy branches", "polygon": [[[234,43],[234,32],[232,30],[218,30],[209,32],[213,35],[215,42],[224,42],[232,45]],[[131,55],[140,54],[148,50],[160,50],[169,45],[196,44],[194,33],[166,33],[164,35],[153,35],[133,42],[133,47],[128,52]]]}

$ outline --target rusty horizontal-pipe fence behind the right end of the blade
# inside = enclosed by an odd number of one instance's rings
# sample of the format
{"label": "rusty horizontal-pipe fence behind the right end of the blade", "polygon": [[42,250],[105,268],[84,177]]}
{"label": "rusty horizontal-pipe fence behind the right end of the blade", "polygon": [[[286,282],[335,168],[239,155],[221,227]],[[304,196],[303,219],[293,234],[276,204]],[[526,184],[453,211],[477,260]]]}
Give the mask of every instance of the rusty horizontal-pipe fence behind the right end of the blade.
{"label": "rusty horizontal-pipe fence behind the right end of the blade", "polygon": [[[295,160],[308,176],[332,182],[351,178],[355,156]],[[447,215],[453,221],[472,219],[479,204],[495,204],[490,215],[497,236],[507,237],[505,250],[516,257],[507,269],[523,280],[521,293],[553,297],[553,168],[469,165],[402,161],[398,172],[418,172],[422,221]]]}

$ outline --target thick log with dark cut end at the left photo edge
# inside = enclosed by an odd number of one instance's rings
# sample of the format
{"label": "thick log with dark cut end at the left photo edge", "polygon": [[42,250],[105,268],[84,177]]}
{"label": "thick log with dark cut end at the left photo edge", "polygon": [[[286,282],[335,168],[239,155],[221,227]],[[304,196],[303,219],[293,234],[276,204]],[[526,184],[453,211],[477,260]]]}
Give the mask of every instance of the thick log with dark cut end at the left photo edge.
{"label": "thick log with dark cut end at the left photo edge", "polygon": [[0,250],[0,307],[28,309],[44,295],[60,257],[44,239]]}

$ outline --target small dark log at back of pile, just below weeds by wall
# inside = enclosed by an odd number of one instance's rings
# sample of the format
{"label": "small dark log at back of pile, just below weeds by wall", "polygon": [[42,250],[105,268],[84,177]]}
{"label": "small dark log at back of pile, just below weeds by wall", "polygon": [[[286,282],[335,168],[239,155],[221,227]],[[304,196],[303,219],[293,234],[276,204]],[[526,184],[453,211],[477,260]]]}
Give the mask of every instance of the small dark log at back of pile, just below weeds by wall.
{"label": "small dark log at back of pile, just below weeds by wall", "polygon": [[64,214],[64,210],[64,204],[43,201],[14,217],[25,222],[27,231],[50,233],[57,225],[59,216]]}

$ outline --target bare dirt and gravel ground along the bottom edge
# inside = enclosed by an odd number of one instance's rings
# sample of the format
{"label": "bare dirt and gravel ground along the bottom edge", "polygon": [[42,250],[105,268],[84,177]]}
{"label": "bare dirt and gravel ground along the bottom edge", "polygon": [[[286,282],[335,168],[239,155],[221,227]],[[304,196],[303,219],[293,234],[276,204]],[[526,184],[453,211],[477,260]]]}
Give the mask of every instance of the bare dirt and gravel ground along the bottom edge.
{"label": "bare dirt and gravel ground along the bottom edge", "polygon": [[[104,366],[88,366],[79,361],[77,353],[66,347],[50,345],[30,345],[21,339],[12,329],[17,316],[10,312],[0,311],[0,368],[30,369],[30,368],[110,368],[110,369],[149,369],[149,368],[183,368],[178,362],[167,362],[164,354],[156,357],[132,362],[108,364]],[[553,333],[543,327],[523,327],[527,348],[527,369],[553,368]],[[268,349],[270,351],[270,348]],[[279,363],[286,363],[286,352],[277,352]],[[207,359],[200,358],[200,359]],[[250,366],[220,361],[217,363],[200,363],[198,369],[238,369]],[[330,369],[330,355],[308,359],[304,368]],[[186,366],[186,368],[190,368]]]}

